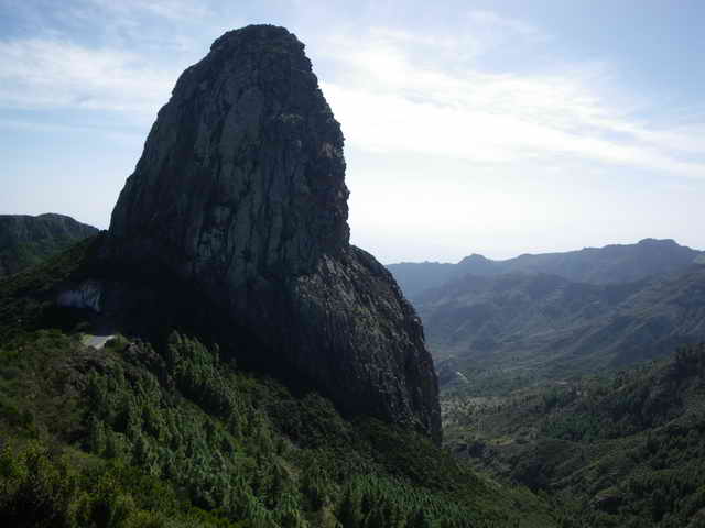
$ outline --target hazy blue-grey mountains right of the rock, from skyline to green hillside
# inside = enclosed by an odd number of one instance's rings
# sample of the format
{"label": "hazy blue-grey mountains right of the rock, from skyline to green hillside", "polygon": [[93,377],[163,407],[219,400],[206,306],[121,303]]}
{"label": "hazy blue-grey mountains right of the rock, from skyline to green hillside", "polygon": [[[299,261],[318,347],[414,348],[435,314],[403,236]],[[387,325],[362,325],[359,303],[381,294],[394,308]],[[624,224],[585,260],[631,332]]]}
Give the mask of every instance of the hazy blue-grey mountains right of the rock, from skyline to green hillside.
{"label": "hazy blue-grey mountains right of the rock, from skyline to green hillside", "polygon": [[[561,377],[705,340],[702,262],[703,252],[647,239],[508,261],[473,255],[455,265],[389,267],[412,298],[442,373],[452,359],[460,372]],[[452,380],[445,374],[442,382]]]}

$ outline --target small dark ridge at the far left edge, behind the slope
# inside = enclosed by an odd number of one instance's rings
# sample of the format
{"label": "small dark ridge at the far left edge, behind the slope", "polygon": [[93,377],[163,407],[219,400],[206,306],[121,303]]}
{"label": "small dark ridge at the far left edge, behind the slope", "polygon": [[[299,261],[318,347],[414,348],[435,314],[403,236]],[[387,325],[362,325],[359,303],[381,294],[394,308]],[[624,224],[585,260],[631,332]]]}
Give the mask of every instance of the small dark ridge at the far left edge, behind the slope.
{"label": "small dark ridge at the far left edge, behind the slope", "polygon": [[0,215],[0,276],[39,264],[97,233],[98,229],[64,215]]}

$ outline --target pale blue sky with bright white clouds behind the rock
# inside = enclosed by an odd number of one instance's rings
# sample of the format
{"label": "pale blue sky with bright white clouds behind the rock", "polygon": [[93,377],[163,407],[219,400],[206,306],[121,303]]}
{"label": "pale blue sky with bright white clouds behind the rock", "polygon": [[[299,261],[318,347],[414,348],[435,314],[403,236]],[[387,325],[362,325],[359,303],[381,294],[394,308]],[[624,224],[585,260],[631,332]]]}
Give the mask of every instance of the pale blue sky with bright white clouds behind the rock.
{"label": "pale blue sky with bright white clouds behind the rock", "polygon": [[252,23],[306,45],[383,263],[705,249],[701,0],[0,0],[0,213],[107,228],[181,72]]}

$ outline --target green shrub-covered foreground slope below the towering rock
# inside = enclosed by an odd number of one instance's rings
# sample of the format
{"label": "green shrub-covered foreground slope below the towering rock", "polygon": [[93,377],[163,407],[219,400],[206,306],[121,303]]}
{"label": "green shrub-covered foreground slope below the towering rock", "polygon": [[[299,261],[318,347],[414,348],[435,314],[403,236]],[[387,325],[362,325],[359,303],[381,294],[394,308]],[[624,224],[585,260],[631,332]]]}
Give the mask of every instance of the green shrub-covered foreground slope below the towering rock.
{"label": "green shrub-covered foreground slope below the towering rock", "polygon": [[54,308],[52,286],[98,243],[0,280],[3,526],[554,526],[525,487],[245,371],[238,350],[176,331],[83,345],[86,314]]}

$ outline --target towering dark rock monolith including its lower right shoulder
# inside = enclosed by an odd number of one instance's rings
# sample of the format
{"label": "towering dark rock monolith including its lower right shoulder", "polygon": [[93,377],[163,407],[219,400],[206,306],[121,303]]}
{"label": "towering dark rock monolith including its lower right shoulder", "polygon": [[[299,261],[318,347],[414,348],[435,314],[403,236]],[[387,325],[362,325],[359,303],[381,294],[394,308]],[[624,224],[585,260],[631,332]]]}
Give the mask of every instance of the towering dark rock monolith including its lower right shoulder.
{"label": "towering dark rock monolith including its lower right shoulder", "polygon": [[349,245],[343,134],[303,47],[282,28],[248,26],[184,72],[112,212],[107,253],[196,285],[345,410],[438,440],[420,320]]}

